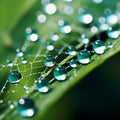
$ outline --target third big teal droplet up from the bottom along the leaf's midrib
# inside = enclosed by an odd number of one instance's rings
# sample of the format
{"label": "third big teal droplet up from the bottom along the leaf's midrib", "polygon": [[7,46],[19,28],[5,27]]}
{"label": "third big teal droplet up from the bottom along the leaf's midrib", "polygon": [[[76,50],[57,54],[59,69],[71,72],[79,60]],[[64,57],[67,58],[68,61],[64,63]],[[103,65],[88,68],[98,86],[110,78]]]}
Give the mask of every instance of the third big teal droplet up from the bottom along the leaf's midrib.
{"label": "third big teal droplet up from the bottom along the leaf's midrib", "polygon": [[56,67],[53,74],[54,78],[58,81],[64,81],[67,78],[67,71],[63,66]]}

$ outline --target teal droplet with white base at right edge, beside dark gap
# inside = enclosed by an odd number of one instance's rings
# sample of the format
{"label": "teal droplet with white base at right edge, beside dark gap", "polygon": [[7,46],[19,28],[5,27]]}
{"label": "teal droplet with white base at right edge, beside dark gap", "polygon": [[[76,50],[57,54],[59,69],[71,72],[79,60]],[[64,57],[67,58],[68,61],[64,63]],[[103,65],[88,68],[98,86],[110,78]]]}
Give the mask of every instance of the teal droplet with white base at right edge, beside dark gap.
{"label": "teal droplet with white base at right edge, beside dark gap", "polygon": [[107,31],[107,35],[109,38],[117,39],[120,36],[120,31],[116,28],[111,28],[110,30]]}

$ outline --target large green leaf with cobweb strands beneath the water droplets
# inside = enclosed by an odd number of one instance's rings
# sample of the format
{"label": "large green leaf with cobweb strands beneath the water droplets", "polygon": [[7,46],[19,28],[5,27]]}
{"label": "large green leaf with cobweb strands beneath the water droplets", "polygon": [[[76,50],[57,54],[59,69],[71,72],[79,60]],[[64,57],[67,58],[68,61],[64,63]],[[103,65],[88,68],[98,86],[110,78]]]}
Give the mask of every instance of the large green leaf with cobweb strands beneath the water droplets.
{"label": "large green leaf with cobweb strands beneath the water droplets", "polygon": [[[94,36],[99,36],[101,34],[100,31],[95,35],[90,32],[89,29],[82,26],[77,20],[77,9],[79,8],[86,8],[94,16],[95,23],[98,21],[98,17],[103,15],[104,9],[106,7],[110,7],[113,11],[115,11],[115,5],[117,4],[117,0],[111,4],[109,0],[106,0],[101,5],[93,4],[91,1],[73,1],[70,3],[75,9],[73,15],[65,15],[63,14],[63,6],[67,3],[56,1],[56,5],[58,6],[57,13],[53,16],[47,16],[47,22],[45,24],[40,24],[36,18],[37,13],[41,11],[40,8],[40,1],[39,0],[21,0],[16,3],[15,0],[10,1],[2,0],[0,5],[0,15],[1,15],[1,22],[0,22],[0,38],[2,42],[0,45],[3,47],[0,49],[1,56],[1,69],[0,69],[0,79],[1,79],[1,91],[3,93],[0,96],[0,99],[3,99],[3,104],[1,104],[0,108],[0,119],[9,119],[15,120],[16,117],[18,120],[22,120],[21,116],[18,115],[16,110],[17,100],[23,96],[28,96],[35,101],[35,104],[38,108],[38,113],[31,119],[39,120],[40,118],[44,119],[44,115],[47,114],[48,109],[55,102],[57,102],[68,90],[72,89],[72,87],[82,80],[89,72],[93,69],[104,63],[107,59],[111,56],[115,55],[120,51],[120,41],[119,40],[112,40],[107,39],[106,44],[108,41],[112,42],[113,48],[107,49],[103,55],[93,55],[92,61],[88,65],[78,65],[76,69],[72,69],[68,72],[69,77],[64,82],[53,82],[51,84],[52,91],[47,94],[40,94],[35,90],[35,80],[37,80],[40,76],[40,73],[45,70],[43,59],[48,54],[53,54],[54,56],[57,55],[58,57],[58,65],[64,65],[74,56],[67,56],[62,54],[60,56],[58,51],[62,51],[61,53],[66,52],[69,46],[75,46],[77,49],[81,48],[83,44],[79,43],[77,40],[80,38],[82,32],[87,31],[89,38]],[[14,7],[15,6],[15,7]],[[11,8],[11,9],[10,9]],[[97,11],[96,11],[97,9]],[[2,12],[4,11],[4,12]],[[4,14],[3,14],[4,13]],[[62,17],[61,17],[62,16]],[[74,19],[76,18],[76,19]],[[59,32],[57,22],[59,19],[63,19],[69,21],[73,28],[73,32],[69,35],[63,35]],[[41,41],[32,43],[25,39],[25,29],[28,26],[32,26],[37,29],[38,35],[42,37]],[[119,25],[117,25],[119,26]],[[50,35],[56,32],[60,36],[61,40],[54,44],[55,52],[47,52],[45,47],[46,44],[49,42]],[[25,57],[28,60],[28,64],[21,64],[21,58],[15,55],[15,50],[17,48],[21,48],[24,53]],[[15,66],[12,70],[19,70],[22,74],[22,79],[20,84],[12,85],[10,83],[6,84],[7,76],[9,71],[11,70],[6,65],[6,60],[11,59],[13,60]],[[74,75],[76,71],[76,74]],[[47,70],[46,77],[51,80],[53,69]],[[29,87],[29,93],[25,92],[24,85]],[[3,88],[5,86],[6,88]],[[15,91],[15,92],[13,92]],[[10,109],[8,105],[8,101],[12,101],[15,103],[15,108]]]}

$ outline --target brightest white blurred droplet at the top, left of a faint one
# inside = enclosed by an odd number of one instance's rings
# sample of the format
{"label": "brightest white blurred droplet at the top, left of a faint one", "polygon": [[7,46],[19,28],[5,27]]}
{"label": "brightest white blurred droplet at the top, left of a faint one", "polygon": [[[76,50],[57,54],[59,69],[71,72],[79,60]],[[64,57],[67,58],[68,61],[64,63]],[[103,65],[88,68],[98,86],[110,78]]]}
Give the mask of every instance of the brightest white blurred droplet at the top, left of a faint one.
{"label": "brightest white blurred droplet at the top, left of a faint one", "polygon": [[44,8],[44,11],[49,15],[53,15],[57,11],[57,7],[54,3],[44,4],[43,8]]}

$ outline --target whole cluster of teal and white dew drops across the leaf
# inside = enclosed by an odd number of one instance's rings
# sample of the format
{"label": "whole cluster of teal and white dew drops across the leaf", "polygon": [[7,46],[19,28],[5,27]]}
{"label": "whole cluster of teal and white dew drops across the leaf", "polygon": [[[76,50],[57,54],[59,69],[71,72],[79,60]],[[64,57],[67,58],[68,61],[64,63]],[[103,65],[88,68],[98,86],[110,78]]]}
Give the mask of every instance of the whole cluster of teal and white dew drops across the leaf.
{"label": "whole cluster of teal and white dew drops across the leaf", "polygon": [[[64,2],[72,2],[72,0],[63,0]],[[93,4],[102,4],[104,0],[91,0]],[[120,3],[119,3],[120,4]],[[53,15],[56,14],[57,11],[57,6],[54,2],[51,2],[50,0],[42,0],[42,6],[43,6],[43,11],[44,14],[41,12],[39,15],[37,15],[37,21],[40,24],[45,24],[47,20],[46,14]],[[120,5],[119,5],[120,6]],[[74,12],[74,8],[71,5],[67,5],[64,7],[64,13],[66,15],[71,15]],[[116,13],[113,13],[110,9],[107,9],[105,12],[105,15],[102,17],[98,18],[98,25],[92,25],[93,23],[93,15],[90,14],[89,11],[85,9],[79,9],[78,10],[78,16],[77,16],[78,21],[82,25],[88,25],[90,26],[90,31],[92,33],[97,33],[98,31],[105,31],[105,35],[110,38],[110,39],[118,39],[120,36],[120,31],[117,27],[113,27],[116,25],[119,20],[120,20],[120,13],[119,11]],[[59,31],[63,34],[69,34],[72,32],[72,27],[69,24],[69,22],[64,21],[64,20],[59,20],[58,21],[58,27]],[[59,41],[59,35],[58,34],[52,34],[50,36],[50,40],[53,42]],[[39,40],[39,35],[37,34],[37,31],[32,28],[27,28],[26,29],[26,40],[29,42],[36,42]],[[112,42],[107,42],[105,43],[104,40],[100,39],[99,37],[96,38],[95,40],[90,40],[86,34],[82,34],[79,42],[83,44],[83,49],[76,48],[75,46],[70,46],[68,50],[65,52],[65,54],[68,54],[69,56],[72,56],[72,59],[70,59],[67,62],[67,67],[64,65],[57,65],[56,64],[56,57],[52,55],[48,55],[44,58],[44,66],[48,68],[54,68],[53,69],[53,80],[57,81],[65,81],[67,79],[67,72],[68,72],[68,67],[70,68],[76,68],[77,64],[82,64],[86,65],[91,62],[91,56],[93,54],[104,54],[106,49],[112,49],[113,45]],[[47,51],[54,51],[55,46],[53,44],[47,44],[46,45]],[[27,59],[24,56],[24,52],[20,49],[16,50],[17,56],[21,57],[21,62],[22,64],[27,64]],[[12,67],[14,63],[12,61],[8,60],[7,61],[8,66]],[[16,84],[19,83],[22,78],[22,75],[19,71],[13,70],[9,73],[7,81],[11,84]],[[45,73],[42,72],[40,78],[35,81],[36,84],[36,89],[40,93],[48,93],[51,90],[50,84],[53,82],[53,80],[48,81],[45,78]],[[2,101],[1,101],[2,103]],[[10,108],[13,109],[15,105],[13,103],[9,103]],[[20,98],[16,104],[16,108],[18,113],[22,117],[32,117],[36,114],[37,108],[34,104],[34,101],[28,97],[23,97]]]}

